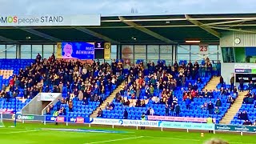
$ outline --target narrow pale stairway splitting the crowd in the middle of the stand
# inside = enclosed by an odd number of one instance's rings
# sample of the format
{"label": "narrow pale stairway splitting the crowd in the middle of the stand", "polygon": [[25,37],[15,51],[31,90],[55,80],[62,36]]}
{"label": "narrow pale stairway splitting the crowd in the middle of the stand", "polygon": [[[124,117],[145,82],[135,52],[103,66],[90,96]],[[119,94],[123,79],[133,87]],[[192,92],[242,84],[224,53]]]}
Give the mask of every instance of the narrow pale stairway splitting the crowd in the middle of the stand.
{"label": "narrow pale stairway splitting the crowd in the middle of the stand", "polygon": [[[128,78],[128,82],[130,81],[130,78]],[[122,82],[123,83],[123,82]],[[98,106],[96,110],[94,110],[93,114],[90,114],[90,118],[97,118],[98,115],[98,111],[100,110],[100,108],[102,108],[102,110],[105,109],[107,102],[112,102],[115,98],[115,94],[117,94],[120,90],[121,90],[122,84],[119,85],[113,92],[112,94],[110,94],[109,97],[106,98],[106,100],[104,102],[102,102],[102,105]]]}

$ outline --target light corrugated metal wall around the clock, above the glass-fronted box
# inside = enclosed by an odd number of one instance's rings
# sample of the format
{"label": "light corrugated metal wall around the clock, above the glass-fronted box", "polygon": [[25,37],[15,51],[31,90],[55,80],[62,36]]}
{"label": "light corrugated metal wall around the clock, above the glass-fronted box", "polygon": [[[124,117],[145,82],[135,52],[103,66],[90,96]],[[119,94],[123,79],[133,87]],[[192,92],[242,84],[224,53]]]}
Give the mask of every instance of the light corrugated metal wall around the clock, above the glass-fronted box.
{"label": "light corrugated metal wall around the clock, above the glass-fronted box", "polygon": [[[253,46],[256,47],[256,30],[248,30],[255,31],[253,33],[245,33],[245,32],[226,32],[222,34],[222,38],[220,38],[220,46],[221,47],[248,47]],[[236,44],[234,40],[236,38],[240,39],[240,43]]]}

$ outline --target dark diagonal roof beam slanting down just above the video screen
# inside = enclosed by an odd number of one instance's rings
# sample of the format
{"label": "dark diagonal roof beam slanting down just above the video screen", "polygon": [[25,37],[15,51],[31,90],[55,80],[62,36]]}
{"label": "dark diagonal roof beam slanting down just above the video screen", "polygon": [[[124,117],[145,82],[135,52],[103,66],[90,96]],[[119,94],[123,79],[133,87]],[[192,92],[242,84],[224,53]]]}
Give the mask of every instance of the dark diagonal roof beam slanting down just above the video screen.
{"label": "dark diagonal roof beam slanting down just above the video screen", "polygon": [[111,38],[106,37],[105,35],[98,34],[98,33],[94,32],[93,30],[89,30],[89,29],[86,29],[84,27],[74,27],[74,29],[80,30],[83,33],[90,34],[90,35],[92,35],[94,37],[101,38],[101,39],[103,39],[106,42],[111,42],[113,44],[119,44],[120,43],[120,42],[117,42],[117,41],[115,41],[115,40],[113,40]]}

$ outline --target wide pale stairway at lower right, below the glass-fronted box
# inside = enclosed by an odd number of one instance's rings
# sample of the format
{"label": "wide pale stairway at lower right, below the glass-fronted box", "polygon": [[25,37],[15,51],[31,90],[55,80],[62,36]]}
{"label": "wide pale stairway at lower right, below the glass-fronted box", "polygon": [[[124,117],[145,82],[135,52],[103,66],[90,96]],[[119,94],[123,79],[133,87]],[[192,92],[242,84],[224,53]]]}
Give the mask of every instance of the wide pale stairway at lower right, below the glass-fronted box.
{"label": "wide pale stairway at lower right, below the glass-fronted box", "polygon": [[230,109],[226,112],[225,116],[221,120],[221,124],[230,124],[232,119],[234,118],[235,114],[238,113],[238,110],[242,106],[242,101],[245,95],[248,92],[239,92],[238,98],[234,101],[233,105],[231,105]]}

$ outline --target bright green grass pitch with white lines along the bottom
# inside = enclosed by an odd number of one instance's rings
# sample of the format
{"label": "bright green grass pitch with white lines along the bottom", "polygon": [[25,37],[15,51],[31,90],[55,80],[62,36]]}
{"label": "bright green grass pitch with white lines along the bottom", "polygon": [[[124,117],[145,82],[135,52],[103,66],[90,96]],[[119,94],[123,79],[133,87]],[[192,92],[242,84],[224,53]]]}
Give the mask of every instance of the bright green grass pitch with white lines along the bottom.
{"label": "bright green grass pitch with white lines along the bottom", "polygon": [[208,134],[201,137],[200,132],[160,131],[160,130],[131,130],[127,128],[106,128],[88,126],[55,126],[54,124],[18,123],[10,128],[12,122],[5,122],[0,128],[0,143],[7,144],[202,144],[210,138],[222,138],[230,144],[256,143],[254,135],[237,134]]}

